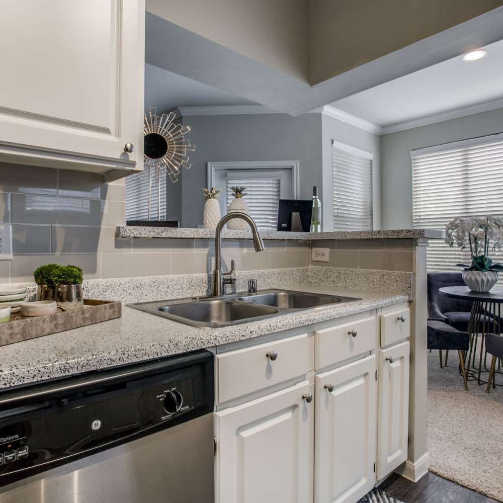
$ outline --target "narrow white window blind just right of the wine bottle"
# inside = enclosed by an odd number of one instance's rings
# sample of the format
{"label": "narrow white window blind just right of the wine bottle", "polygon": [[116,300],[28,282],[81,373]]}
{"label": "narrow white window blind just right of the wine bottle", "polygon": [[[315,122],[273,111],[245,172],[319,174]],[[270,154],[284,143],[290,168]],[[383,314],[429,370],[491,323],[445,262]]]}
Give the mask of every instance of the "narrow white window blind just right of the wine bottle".
{"label": "narrow white window blind just right of the wine bottle", "polygon": [[372,230],[372,154],[332,143],[333,230]]}

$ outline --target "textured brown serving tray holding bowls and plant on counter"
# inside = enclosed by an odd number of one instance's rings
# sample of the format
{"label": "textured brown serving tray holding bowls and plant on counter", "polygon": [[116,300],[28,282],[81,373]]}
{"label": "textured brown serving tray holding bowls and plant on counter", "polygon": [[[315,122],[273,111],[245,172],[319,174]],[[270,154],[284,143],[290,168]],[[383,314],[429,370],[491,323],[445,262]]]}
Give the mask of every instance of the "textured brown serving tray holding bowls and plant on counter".
{"label": "textured brown serving tray holding bowls and plant on counter", "polygon": [[19,313],[14,313],[11,321],[0,323],[0,346],[120,318],[121,315],[120,302],[92,299],[84,299],[84,307],[76,311],[58,311],[44,316],[19,316]]}

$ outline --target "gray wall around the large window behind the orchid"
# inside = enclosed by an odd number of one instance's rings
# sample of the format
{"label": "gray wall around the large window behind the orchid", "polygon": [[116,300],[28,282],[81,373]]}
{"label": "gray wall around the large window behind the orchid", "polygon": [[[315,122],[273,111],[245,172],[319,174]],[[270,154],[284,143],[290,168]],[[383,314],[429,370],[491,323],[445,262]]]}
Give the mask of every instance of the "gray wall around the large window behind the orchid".
{"label": "gray wall around the large window behind the orchid", "polygon": [[412,227],[410,150],[503,131],[503,108],[381,136],[382,228]]}

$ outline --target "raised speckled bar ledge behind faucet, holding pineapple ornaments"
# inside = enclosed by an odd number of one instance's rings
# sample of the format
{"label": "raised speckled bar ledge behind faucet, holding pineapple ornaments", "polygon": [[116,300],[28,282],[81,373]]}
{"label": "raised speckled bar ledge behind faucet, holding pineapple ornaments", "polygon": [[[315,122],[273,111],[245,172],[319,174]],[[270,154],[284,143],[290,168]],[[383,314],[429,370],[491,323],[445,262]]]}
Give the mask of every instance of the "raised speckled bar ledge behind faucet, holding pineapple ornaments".
{"label": "raised speckled bar ledge behind faucet, holding pineapple ornaments", "polygon": [[[210,229],[190,229],[173,227],[136,227],[123,225],[116,227],[115,234],[121,238],[176,238],[211,239],[215,231]],[[395,229],[395,230],[354,230],[339,232],[279,232],[261,230],[263,239],[317,240],[317,239],[443,239],[443,230],[434,229]],[[251,239],[251,231],[227,230],[222,232],[226,239]]]}

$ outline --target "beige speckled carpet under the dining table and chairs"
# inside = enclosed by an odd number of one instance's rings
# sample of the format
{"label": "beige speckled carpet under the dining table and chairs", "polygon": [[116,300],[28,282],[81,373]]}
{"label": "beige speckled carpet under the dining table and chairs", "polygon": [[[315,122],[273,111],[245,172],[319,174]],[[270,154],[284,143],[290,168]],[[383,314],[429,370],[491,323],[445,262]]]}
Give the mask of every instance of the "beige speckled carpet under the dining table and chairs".
{"label": "beige speckled carpet under the dining table and chairs", "polygon": [[[457,351],[451,351],[448,367],[441,369],[439,352],[428,355],[430,470],[503,501],[503,386],[487,394],[485,385],[468,381],[465,391],[458,362]],[[503,375],[496,375],[498,382]]]}

